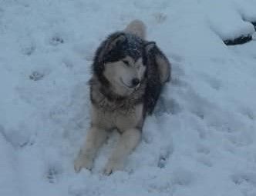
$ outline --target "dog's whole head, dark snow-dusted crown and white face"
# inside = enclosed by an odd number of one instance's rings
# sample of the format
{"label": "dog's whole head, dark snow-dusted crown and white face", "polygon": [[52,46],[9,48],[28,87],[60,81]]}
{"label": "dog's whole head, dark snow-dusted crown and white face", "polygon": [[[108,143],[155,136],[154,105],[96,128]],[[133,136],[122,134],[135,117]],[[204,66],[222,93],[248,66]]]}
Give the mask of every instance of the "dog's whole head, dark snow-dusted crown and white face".
{"label": "dog's whole head, dark snow-dusted crown and white face", "polygon": [[130,95],[145,77],[144,41],[136,35],[116,32],[96,51],[93,73],[117,95]]}

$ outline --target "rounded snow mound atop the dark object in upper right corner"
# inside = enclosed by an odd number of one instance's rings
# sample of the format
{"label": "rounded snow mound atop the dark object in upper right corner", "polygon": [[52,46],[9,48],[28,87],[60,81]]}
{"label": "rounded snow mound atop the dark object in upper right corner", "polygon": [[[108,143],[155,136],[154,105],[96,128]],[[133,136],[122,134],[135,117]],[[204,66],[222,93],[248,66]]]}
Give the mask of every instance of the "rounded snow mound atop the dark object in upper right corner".
{"label": "rounded snow mound atop the dark object in upper right corner", "polygon": [[[236,6],[237,5],[237,6]],[[246,8],[247,2],[242,1],[211,1],[202,3],[201,9],[207,9],[205,17],[211,25],[211,29],[222,39],[234,39],[241,35],[251,35],[254,32],[254,11],[252,7]],[[253,4],[251,4],[253,5]],[[222,17],[216,17],[217,13],[224,13]],[[248,22],[249,21],[249,22]]]}

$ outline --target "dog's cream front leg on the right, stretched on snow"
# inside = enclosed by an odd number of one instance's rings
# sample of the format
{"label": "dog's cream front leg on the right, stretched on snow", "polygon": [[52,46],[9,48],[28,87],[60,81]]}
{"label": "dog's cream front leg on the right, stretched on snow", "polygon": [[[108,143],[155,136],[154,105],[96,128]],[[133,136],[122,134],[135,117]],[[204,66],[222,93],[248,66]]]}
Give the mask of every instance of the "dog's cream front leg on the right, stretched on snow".
{"label": "dog's cream front leg on the right, stretched on snow", "polygon": [[141,131],[136,128],[128,129],[121,135],[120,141],[109,158],[109,161],[104,168],[104,174],[109,175],[113,171],[122,170],[126,157],[139,144],[141,138]]}

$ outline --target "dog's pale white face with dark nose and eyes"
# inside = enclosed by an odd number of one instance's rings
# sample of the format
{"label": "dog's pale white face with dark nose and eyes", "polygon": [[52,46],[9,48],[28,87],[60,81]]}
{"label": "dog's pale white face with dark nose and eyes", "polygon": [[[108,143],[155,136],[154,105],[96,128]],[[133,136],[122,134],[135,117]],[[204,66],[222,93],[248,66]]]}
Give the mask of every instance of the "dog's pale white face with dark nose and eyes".
{"label": "dog's pale white face with dark nose and eyes", "polygon": [[108,62],[104,66],[103,75],[119,95],[129,95],[139,88],[146,71],[143,58],[135,60],[129,55],[118,61]]}

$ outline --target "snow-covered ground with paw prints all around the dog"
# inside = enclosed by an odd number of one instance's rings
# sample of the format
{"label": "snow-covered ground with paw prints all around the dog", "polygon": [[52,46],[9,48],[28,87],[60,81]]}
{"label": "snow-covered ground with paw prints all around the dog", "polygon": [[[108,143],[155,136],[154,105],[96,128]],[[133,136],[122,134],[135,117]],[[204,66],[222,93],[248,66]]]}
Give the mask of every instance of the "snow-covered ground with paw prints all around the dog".
{"label": "snow-covered ground with paw prints all around the dog", "polygon": [[[255,196],[255,0],[0,0],[1,196]],[[125,171],[73,171],[93,52],[134,18],[173,65]],[[255,38],[255,36],[254,36]]]}

